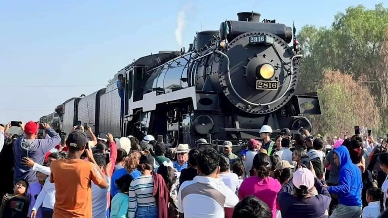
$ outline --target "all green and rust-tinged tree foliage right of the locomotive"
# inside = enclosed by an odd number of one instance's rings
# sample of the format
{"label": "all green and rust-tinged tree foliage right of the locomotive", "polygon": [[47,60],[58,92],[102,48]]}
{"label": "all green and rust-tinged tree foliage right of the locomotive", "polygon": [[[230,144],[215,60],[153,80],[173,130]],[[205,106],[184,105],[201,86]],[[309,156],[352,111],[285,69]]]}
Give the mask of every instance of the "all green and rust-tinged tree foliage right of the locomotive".
{"label": "all green and rust-tinged tree foliage right of the locomotive", "polygon": [[[298,33],[304,55],[299,78],[304,81],[307,78],[310,81],[300,82],[299,88],[301,91],[318,91],[320,94],[323,112],[321,117],[324,118],[312,118],[313,125],[320,131],[335,132],[339,128],[345,128],[345,124],[342,125],[336,120],[347,122],[349,125],[346,126],[350,127],[356,124],[379,125],[378,128],[382,131],[388,131],[388,35],[385,36],[387,27],[388,9],[383,7],[383,4],[376,5],[374,9],[357,5],[336,14],[329,28],[307,25]],[[359,123],[364,122],[364,119],[360,120],[356,116],[366,116],[355,113],[361,108],[353,104],[344,106],[344,102],[354,99],[352,96],[355,92],[347,92],[348,89],[344,88],[347,84],[331,84],[336,81],[325,80],[325,69],[350,75],[353,82],[358,81],[361,89],[368,88],[377,99],[365,102],[365,107],[374,108],[381,114],[382,126],[376,120]],[[330,84],[322,85],[324,82]],[[358,94],[368,95],[367,92]],[[363,99],[365,96],[361,95],[359,98]],[[376,105],[379,108],[376,108]],[[371,119],[375,118],[377,116]]]}

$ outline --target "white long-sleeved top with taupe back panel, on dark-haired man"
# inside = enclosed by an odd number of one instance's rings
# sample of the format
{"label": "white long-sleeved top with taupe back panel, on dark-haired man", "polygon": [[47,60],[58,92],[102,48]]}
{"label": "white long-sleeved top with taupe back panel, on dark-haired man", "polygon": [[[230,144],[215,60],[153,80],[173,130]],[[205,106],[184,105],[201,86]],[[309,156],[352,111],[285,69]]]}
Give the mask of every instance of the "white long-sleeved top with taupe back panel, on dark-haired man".
{"label": "white long-sleeved top with taupe back panel, on dark-haired man", "polygon": [[185,218],[224,218],[224,208],[234,208],[238,202],[221,178],[196,176],[182,183],[178,192],[178,211]]}

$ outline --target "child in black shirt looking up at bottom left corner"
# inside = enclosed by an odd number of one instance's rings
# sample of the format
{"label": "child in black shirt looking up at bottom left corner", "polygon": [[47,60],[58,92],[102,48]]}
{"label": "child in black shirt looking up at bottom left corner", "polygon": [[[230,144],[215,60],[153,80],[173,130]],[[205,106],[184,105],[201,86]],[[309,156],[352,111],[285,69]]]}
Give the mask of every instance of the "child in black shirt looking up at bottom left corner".
{"label": "child in black shirt looking up at bottom left corner", "polygon": [[29,199],[26,196],[28,182],[24,179],[17,180],[14,186],[14,194],[5,194],[0,207],[0,218],[24,218],[27,217]]}

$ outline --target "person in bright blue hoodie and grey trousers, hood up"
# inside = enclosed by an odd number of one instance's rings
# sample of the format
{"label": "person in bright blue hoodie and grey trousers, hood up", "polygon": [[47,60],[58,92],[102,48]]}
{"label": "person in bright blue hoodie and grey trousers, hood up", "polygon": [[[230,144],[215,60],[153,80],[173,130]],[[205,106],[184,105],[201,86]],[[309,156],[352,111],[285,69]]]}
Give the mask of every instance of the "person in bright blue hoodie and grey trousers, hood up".
{"label": "person in bright blue hoodie and grey trousers, hood up", "polygon": [[349,150],[340,146],[333,150],[334,163],[339,167],[338,185],[329,186],[331,194],[338,194],[338,205],[330,218],[360,218],[362,214],[362,179],[360,169],[352,163]]}

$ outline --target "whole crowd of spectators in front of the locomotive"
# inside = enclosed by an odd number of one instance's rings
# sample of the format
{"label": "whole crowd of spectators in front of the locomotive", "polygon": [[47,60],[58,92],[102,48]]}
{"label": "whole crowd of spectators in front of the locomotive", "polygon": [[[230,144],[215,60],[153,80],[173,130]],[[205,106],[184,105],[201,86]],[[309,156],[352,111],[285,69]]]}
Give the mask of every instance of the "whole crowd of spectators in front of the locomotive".
{"label": "whole crowd of spectators in front of the locomotive", "polygon": [[[74,126],[0,125],[0,218],[387,217],[387,138],[323,138],[263,125],[233,143],[166,147],[152,135],[95,137]],[[203,146],[204,145],[204,146]]]}

